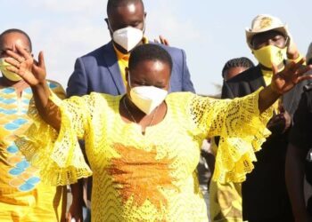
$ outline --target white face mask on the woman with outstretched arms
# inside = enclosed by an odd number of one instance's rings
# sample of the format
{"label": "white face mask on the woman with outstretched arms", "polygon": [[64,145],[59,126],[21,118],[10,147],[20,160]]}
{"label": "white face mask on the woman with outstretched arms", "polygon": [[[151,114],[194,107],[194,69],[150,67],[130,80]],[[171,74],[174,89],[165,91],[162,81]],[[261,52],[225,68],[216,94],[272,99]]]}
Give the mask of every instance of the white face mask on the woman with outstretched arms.
{"label": "white face mask on the woman with outstretched arms", "polygon": [[[128,83],[130,86],[130,75],[128,75]],[[160,106],[166,99],[168,91],[157,88],[155,86],[130,86],[130,99],[136,107],[141,109],[145,114],[149,115],[156,107]]]}

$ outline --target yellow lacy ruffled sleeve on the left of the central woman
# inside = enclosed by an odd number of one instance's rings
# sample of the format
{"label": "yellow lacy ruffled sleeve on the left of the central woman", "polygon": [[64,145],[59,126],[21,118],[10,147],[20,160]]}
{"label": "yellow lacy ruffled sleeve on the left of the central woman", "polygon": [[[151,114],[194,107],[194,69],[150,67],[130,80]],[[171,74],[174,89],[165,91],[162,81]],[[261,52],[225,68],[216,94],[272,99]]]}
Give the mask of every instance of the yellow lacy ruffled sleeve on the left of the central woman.
{"label": "yellow lacy ruffled sleeve on the left of the central woman", "polygon": [[56,105],[61,111],[59,132],[45,123],[34,102],[30,103],[29,116],[33,124],[15,143],[29,163],[40,170],[40,178],[46,184],[63,186],[92,175],[78,144],[88,127],[88,100],[89,96],[61,100],[52,92],[48,104]]}

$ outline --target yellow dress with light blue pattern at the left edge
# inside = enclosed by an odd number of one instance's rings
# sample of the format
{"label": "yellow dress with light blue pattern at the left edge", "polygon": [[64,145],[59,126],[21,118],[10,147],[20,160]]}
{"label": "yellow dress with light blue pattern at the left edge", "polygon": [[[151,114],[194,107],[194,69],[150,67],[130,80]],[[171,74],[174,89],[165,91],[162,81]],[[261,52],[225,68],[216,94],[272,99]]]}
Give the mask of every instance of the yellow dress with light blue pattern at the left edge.
{"label": "yellow dress with light blue pattern at the left edge", "polygon": [[[58,94],[64,92],[57,83],[49,83]],[[60,92],[60,93],[59,93]],[[17,96],[14,88],[0,86],[0,221],[61,221],[62,187],[46,186],[38,169],[26,161],[16,147],[21,135],[32,123],[27,115],[30,88]],[[43,138],[44,139],[44,138]]]}

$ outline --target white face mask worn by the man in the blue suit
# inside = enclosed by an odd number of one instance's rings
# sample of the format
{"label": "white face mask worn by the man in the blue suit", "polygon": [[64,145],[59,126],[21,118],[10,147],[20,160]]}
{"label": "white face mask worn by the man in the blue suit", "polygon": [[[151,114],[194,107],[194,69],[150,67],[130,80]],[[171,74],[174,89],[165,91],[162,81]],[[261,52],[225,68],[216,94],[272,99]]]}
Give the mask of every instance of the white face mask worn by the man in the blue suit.
{"label": "white face mask worn by the man in the blue suit", "polygon": [[[110,23],[109,28],[111,29]],[[119,44],[122,48],[127,50],[127,52],[130,52],[135,48],[136,44],[139,44],[140,41],[142,41],[143,34],[144,30],[141,30],[139,28],[127,27],[114,31],[112,34],[112,39],[116,44]]]}

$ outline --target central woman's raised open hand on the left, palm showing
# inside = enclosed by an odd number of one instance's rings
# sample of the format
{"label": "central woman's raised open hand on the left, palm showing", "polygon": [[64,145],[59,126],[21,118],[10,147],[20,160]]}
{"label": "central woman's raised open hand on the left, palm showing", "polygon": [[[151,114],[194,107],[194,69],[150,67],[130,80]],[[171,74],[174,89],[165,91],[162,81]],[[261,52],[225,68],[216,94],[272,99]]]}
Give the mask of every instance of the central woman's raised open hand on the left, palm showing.
{"label": "central woman's raised open hand on the left, palm showing", "polygon": [[38,62],[33,59],[29,52],[26,52],[21,45],[16,45],[18,53],[6,51],[10,58],[5,61],[12,65],[7,70],[20,75],[21,78],[30,85],[36,87],[39,84],[45,84],[45,59],[43,52],[39,52]]}

